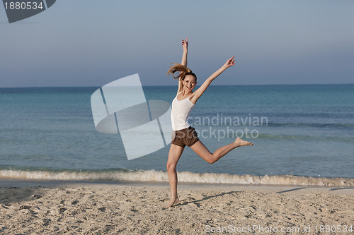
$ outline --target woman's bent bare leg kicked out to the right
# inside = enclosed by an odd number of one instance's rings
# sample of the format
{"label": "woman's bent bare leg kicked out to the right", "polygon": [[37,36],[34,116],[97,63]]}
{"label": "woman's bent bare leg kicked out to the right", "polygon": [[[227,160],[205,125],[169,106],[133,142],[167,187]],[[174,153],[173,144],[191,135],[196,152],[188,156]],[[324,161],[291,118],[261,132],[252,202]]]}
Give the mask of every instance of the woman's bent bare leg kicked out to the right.
{"label": "woman's bent bare leg kicked out to the right", "polygon": [[240,138],[236,138],[234,143],[219,147],[214,153],[211,153],[207,149],[207,147],[205,147],[205,145],[203,145],[202,142],[198,140],[198,142],[192,145],[190,148],[195,153],[197,153],[200,157],[202,157],[202,159],[205,159],[205,161],[212,164],[216,162],[218,159],[224,157],[224,155],[226,155],[231,150],[234,150],[236,147],[241,147],[246,145],[253,145],[253,143],[247,142],[245,140],[241,140]]}

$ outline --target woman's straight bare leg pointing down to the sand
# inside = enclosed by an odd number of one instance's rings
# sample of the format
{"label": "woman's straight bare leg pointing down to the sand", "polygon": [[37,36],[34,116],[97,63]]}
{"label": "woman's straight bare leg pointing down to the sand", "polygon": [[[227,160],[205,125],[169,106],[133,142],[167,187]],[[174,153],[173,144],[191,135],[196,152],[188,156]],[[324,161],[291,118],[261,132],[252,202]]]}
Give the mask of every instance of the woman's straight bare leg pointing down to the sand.
{"label": "woman's straight bare leg pointing down to the sand", "polygon": [[169,204],[165,206],[165,208],[171,207],[173,204],[178,203],[178,195],[177,195],[177,171],[176,165],[179,158],[182,155],[184,147],[171,144],[169,159],[167,160],[167,173],[169,174],[169,182],[171,188],[171,200]]}

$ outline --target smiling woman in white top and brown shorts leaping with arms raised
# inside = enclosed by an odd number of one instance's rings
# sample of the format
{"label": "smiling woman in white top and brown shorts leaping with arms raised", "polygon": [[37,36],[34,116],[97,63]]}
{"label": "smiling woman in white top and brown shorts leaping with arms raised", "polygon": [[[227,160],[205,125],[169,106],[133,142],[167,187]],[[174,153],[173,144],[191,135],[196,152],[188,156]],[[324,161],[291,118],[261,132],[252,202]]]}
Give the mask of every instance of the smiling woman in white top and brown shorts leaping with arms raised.
{"label": "smiling woman in white top and brown shorts leaping with arms raised", "polygon": [[173,64],[167,75],[173,76],[178,80],[177,95],[172,102],[171,122],[172,122],[172,142],[169,151],[169,159],[167,160],[167,172],[169,174],[169,182],[171,188],[171,200],[165,207],[171,207],[173,204],[178,203],[177,195],[177,171],[176,165],[179,158],[182,155],[184,147],[187,145],[195,153],[197,153],[202,159],[210,164],[217,162],[220,158],[224,157],[228,152],[234,150],[236,147],[253,145],[251,142],[236,138],[233,143],[220,147],[215,152],[211,153],[205,145],[199,140],[195,128],[191,127],[188,123],[188,117],[190,111],[195,106],[195,103],[207,90],[210,83],[217,78],[225,69],[234,66],[235,59],[232,56],[231,59],[219,68],[212,76],[207,78],[204,83],[193,92],[195,85],[197,85],[197,76],[187,68],[187,54],[188,54],[188,38],[182,40],[183,56],[181,64]]}

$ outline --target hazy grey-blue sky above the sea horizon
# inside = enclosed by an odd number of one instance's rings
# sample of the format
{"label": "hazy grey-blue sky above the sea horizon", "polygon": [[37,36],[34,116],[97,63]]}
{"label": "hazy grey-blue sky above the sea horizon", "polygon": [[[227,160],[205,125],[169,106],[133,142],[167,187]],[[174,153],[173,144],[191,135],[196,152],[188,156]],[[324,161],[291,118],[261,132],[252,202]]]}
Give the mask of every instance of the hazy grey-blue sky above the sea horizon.
{"label": "hazy grey-blue sky above the sea horizon", "polygon": [[0,87],[101,86],[139,73],[176,85],[181,63],[214,85],[354,82],[354,1],[59,0],[9,24],[0,6]]}

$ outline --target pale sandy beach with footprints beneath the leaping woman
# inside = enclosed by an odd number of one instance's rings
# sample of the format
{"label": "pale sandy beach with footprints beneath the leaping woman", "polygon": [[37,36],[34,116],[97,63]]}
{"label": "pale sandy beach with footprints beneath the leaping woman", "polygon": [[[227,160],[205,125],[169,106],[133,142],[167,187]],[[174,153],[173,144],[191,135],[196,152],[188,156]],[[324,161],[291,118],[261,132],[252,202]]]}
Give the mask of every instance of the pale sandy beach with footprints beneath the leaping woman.
{"label": "pale sandy beach with footprints beneath the leaping woman", "polygon": [[353,187],[0,181],[1,234],[353,234]]}

